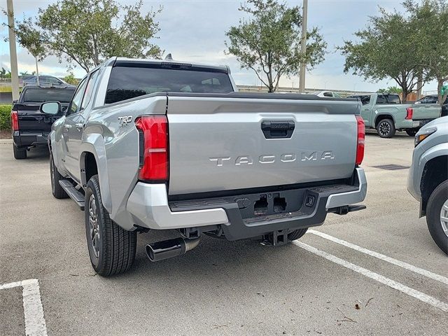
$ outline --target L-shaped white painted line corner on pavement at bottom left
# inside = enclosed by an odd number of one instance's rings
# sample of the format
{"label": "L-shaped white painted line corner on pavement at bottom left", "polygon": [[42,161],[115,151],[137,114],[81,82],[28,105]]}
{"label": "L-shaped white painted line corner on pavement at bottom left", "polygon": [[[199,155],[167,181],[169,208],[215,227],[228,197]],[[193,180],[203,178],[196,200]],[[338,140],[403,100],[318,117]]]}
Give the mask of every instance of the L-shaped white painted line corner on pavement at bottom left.
{"label": "L-shaped white painted line corner on pavement at bottom left", "polygon": [[37,279],[4,283],[0,289],[22,287],[23,313],[25,315],[25,335],[47,336],[47,326],[43,318],[41,292]]}

